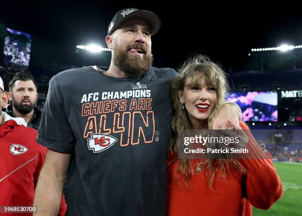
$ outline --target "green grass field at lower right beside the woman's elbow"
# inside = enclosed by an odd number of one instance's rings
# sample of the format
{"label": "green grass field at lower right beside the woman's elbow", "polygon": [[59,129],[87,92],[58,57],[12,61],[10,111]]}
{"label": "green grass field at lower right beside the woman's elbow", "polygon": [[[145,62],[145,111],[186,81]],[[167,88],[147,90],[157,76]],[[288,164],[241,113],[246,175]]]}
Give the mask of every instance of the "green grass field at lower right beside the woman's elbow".
{"label": "green grass field at lower right beside the woman's elbow", "polygon": [[284,195],[269,210],[253,207],[254,216],[302,216],[302,164],[274,163]]}

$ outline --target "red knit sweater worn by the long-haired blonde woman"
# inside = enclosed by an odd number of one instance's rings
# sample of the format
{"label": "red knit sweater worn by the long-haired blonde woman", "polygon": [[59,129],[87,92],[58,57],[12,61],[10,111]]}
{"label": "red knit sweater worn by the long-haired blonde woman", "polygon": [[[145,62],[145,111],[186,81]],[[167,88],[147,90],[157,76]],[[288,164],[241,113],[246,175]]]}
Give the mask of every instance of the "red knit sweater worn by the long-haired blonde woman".
{"label": "red knit sweater worn by the long-haired blonde woman", "polygon": [[[260,158],[264,153],[248,127],[244,123],[240,126],[249,137],[249,154]],[[174,162],[167,169],[167,216],[251,216],[251,204],[260,209],[271,207],[283,195],[281,180],[273,164],[269,159],[238,161],[247,174],[230,165],[230,174],[224,178],[216,175],[212,189],[208,187],[204,166],[200,173],[190,178],[187,189],[184,178],[175,176],[178,161]],[[196,164],[195,159],[191,162]]]}

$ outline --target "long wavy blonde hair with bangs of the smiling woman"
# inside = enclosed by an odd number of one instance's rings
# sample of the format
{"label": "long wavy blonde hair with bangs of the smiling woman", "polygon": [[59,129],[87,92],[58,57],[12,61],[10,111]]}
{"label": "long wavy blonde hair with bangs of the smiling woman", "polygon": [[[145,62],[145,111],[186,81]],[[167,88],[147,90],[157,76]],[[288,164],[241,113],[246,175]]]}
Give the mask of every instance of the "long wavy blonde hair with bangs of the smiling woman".
{"label": "long wavy blonde hair with bangs of the smiling woman", "polygon": [[[225,101],[225,96],[229,92],[226,73],[220,65],[212,62],[208,57],[197,55],[189,58],[179,69],[180,75],[171,85],[172,103],[174,109],[174,117],[172,120],[172,139],[170,142],[170,152],[173,158],[170,160],[171,165],[178,160],[178,152],[183,145],[178,137],[182,130],[193,129],[189,121],[186,109],[182,109],[179,93],[184,91],[186,80],[190,79],[190,85],[200,86],[205,83],[208,87],[216,88],[217,102],[212,108],[208,118],[206,129],[212,129],[213,120],[217,115],[219,108]],[[235,159],[211,159],[202,160],[198,165],[203,165],[206,169],[208,185],[211,188],[215,175],[222,170],[223,176],[229,173],[228,165],[232,164],[236,169],[245,173],[244,168]],[[179,159],[176,176],[181,173],[186,180],[186,187],[189,186],[189,179],[193,176],[192,162],[189,159]]]}

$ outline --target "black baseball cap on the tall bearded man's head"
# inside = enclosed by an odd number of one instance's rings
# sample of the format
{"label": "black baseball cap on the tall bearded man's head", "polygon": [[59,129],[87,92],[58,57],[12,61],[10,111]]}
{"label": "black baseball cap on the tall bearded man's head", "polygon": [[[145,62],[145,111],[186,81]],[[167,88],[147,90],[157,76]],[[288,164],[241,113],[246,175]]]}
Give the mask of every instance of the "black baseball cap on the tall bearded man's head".
{"label": "black baseball cap on the tall bearded man's head", "polygon": [[149,10],[139,10],[137,8],[127,8],[117,11],[108,27],[108,35],[111,35],[122,23],[130,19],[145,21],[150,27],[151,35],[154,35],[160,28],[159,17]]}

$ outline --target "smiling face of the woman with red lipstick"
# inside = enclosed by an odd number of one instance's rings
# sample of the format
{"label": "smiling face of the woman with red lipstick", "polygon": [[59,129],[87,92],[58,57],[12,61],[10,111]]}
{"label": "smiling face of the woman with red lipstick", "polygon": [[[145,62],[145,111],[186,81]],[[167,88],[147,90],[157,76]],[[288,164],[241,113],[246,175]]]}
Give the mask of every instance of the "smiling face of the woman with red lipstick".
{"label": "smiling face of the woman with red lipstick", "polygon": [[180,91],[180,102],[184,103],[192,126],[207,120],[217,102],[216,88],[207,86],[205,82],[198,86],[190,84],[187,78],[184,91]]}

